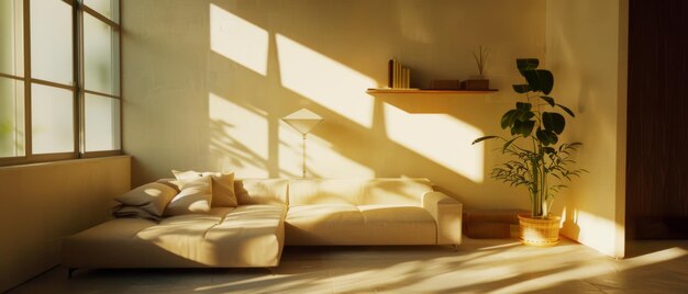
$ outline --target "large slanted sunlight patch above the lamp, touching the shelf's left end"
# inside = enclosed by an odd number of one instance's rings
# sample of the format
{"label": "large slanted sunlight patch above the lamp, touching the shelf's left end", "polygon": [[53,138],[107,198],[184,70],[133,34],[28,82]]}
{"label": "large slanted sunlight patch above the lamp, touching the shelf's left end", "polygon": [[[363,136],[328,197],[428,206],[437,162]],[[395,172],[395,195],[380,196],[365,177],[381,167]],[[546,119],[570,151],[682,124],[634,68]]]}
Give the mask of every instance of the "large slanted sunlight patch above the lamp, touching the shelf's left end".
{"label": "large slanted sunlight patch above the lamp, touching the shelf's left end", "polygon": [[281,84],[365,127],[373,125],[374,79],[277,34]]}

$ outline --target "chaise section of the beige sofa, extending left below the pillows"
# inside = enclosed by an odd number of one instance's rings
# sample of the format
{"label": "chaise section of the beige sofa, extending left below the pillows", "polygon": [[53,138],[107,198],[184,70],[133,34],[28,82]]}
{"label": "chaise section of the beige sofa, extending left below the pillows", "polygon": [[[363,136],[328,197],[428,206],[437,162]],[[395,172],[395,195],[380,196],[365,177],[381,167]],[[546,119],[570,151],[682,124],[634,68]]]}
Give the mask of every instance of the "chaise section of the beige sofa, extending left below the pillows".
{"label": "chaise section of the beige sofa, extending left below the pillows", "polygon": [[[68,237],[69,268],[275,267],[284,241],[282,205],[212,208],[159,224],[118,218]],[[260,219],[256,227],[256,219]],[[242,228],[253,225],[253,230]],[[228,238],[229,235],[232,238]],[[255,258],[259,256],[260,258]]]}

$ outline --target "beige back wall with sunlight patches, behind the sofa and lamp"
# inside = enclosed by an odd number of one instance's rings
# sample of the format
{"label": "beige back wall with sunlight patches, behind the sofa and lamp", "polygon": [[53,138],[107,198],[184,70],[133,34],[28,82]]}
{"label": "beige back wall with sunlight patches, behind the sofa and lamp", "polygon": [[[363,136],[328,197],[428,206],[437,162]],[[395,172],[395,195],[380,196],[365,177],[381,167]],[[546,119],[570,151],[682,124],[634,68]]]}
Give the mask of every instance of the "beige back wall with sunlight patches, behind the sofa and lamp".
{"label": "beige back wall with sunlight patches, behind the sofa and lamp", "polygon": [[[520,81],[517,57],[545,54],[544,0],[123,1],[124,149],[132,181],[170,169],[299,177],[300,135],[279,121],[325,118],[308,139],[313,177],[426,177],[466,207],[529,207],[524,189],[489,179]],[[477,75],[488,95],[369,95],[387,60],[415,87]],[[514,195],[515,194],[515,195]]]}

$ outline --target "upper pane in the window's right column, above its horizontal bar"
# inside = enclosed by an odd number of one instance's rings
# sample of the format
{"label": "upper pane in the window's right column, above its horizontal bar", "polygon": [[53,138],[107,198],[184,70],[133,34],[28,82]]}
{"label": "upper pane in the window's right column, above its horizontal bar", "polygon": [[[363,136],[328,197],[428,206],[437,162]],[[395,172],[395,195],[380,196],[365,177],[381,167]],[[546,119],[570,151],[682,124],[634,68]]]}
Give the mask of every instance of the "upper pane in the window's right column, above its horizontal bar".
{"label": "upper pane in the window's right column, above its horizontal bar", "polygon": [[110,25],[84,14],[84,67],[86,89],[119,95],[118,32]]}

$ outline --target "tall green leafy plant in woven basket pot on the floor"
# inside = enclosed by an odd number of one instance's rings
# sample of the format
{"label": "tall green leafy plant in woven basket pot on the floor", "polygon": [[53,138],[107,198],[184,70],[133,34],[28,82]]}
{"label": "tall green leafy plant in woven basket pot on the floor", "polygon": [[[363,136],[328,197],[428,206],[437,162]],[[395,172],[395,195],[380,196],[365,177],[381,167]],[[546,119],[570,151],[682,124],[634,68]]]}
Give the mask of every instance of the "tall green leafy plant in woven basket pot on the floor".
{"label": "tall green leafy plant in woven basket pot on the floor", "polygon": [[554,87],[554,76],[550,70],[539,69],[536,58],[517,59],[517,67],[526,83],[513,84],[513,90],[524,94],[523,101],[515,102],[514,109],[501,116],[501,128],[510,135],[484,136],[473,144],[486,139],[499,139],[503,145],[499,150],[509,159],[492,168],[490,177],[512,186],[528,188],[532,213],[519,215],[520,238],[528,245],[550,246],[558,242],[561,217],[552,215],[555,194],[565,189],[562,182],[578,177],[584,169],[570,169],[575,163],[572,152],[580,143],[561,143],[559,135],[566,126],[563,111],[570,117],[575,114],[568,108],[550,97]]}

